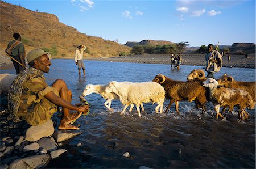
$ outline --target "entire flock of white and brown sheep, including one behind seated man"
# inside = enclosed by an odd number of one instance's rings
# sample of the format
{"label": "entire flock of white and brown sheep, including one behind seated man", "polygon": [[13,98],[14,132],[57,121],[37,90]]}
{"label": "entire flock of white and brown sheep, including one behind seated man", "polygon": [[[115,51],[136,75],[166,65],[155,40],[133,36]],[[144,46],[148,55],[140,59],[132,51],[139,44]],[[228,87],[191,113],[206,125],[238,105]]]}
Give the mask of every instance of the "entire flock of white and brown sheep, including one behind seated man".
{"label": "entire flock of white and brown sheep, including one behind seated man", "polygon": [[[0,92],[1,96],[7,95],[11,83],[16,75],[0,74]],[[141,117],[141,111],[144,111],[143,103],[157,103],[155,112],[163,113],[164,100],[170,100],[167,109],[168,112],[172,103],[175,103],[176,112],[179,114],[179,101],[194,101],[197,108],[206,111],[205,103],[208,101],[214,105],[216,118],[220,116],[225,120],[222,113],[229,108],[229,112],[234,107],[238,108],[238,117],[240,121],[246,120],[249,113],[246,108],[253,109],[255,106],[255,82],[237,82],[230,75],[224,74],[220,79],[205,78],[204,70],[192,70],[187,77],[187,81],[176,81],[171,78],[158,74],[152,82],[132,83],[132,82],[109,82],[104,85],[88,84],[85,87],[83,96],[92,93],[100,94],[106,100],[105,107],[111,109],[112,100],[120,100],[125,106],[130,106],[129,112],[136,106],[138,116]],[[220,107],[223,107],[220,112]],[[160,108],[160,111],[159,111]]]}

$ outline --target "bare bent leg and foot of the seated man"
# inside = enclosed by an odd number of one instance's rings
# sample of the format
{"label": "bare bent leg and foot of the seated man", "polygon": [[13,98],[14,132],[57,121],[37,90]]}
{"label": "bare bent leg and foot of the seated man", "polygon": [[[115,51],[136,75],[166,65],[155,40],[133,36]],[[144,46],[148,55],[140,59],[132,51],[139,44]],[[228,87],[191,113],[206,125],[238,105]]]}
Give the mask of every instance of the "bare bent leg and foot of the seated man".
{"label": "bare bent leg and foot of the seated man", "polygon": [[[72,92],[68,90],[67,84],[61,80],[57,79],[53,84],[54,87],[60,94],[60,97],[71,103]],[[74,129],[79,130],[76,126],[71,125],[70,123],[78,119],[82,115],[82,112],[70,113],[68,108],[63,107],[62,119],[60,121],[59,129]]]}

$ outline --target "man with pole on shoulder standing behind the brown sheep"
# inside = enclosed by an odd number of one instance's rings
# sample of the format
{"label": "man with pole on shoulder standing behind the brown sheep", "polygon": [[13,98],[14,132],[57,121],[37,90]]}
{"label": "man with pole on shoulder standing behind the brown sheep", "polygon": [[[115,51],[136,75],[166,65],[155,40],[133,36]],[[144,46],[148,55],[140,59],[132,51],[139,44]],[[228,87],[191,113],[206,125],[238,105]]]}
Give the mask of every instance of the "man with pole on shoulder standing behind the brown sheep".
{"label": "man with pole on shoulder standing behind the brown sheep", "polygon": [[222,67],[222,55],[217,48],[213,49],[213,44],[208,45],[208,53],[205,55],[205,70],[207,71],[207,78],[214,78],[214,72],[220,71]]}

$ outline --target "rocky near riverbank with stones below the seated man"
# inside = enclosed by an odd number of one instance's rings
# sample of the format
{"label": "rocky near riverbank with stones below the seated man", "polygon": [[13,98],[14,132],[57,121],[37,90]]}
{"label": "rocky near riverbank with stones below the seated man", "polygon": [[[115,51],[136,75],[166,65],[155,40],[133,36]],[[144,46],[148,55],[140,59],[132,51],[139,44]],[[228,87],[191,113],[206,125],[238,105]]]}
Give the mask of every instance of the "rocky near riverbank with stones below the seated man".
{"label": "rocky near riverbank with stones below the seated man", "polygon": [[44,168],[68,151],[62,148],[63,141],[81,134],[79,131],[57,130],[58,114],[38,126],[30,126],[25,121],[14,123],[4,105],[1,100],[0,168]]}

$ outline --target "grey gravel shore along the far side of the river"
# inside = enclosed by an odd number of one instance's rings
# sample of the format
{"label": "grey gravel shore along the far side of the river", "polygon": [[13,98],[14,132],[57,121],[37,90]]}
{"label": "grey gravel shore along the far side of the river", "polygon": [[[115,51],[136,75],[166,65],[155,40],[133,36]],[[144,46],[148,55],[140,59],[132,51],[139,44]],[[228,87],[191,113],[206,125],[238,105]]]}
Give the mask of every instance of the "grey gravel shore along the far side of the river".
{"label": "grey gravel shore along the far side of the river", "polygon": [[[122,56],[122,57],[109,57],[109,58],[90,58],[84,57],[85,60],[95,60],[95,61],[109,61],[109,62],[132,62],[132,63],[145,63],[145,64],[167,64],[170,65],[169,55],[133,55],[133,56]],[[228,62],[226,56],[222,58],[224,67],[242,67],[242,68],[254,68],[255,69],[255,54],[249,55],[247,60],[243,55],[233,55],[231,60]],[[12,62],[10,58],[4,53],[0,53],[0,66],[1,69],[6,69],[10,67]],[[205,56],[204,54],[184,54],[182,65],[197,65],[205,66]]]}

